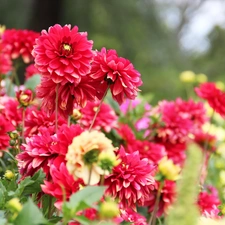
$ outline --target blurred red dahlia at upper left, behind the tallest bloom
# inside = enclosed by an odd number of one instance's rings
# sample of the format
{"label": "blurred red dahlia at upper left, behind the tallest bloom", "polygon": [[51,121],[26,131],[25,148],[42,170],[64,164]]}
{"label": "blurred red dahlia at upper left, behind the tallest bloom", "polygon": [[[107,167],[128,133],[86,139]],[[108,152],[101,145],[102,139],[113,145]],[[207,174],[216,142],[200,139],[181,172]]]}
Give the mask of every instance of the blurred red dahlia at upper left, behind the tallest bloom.
{"label": "blurred red dahlia at upper left, behind the tallest bloom", "polygon": [[25,63],[33,60],[31,52],[35,39],[39,37],[39,33],[30,30],[5,30],[2,35],[2,44],[5,52],[12,59],[17,59],[22,56]]}

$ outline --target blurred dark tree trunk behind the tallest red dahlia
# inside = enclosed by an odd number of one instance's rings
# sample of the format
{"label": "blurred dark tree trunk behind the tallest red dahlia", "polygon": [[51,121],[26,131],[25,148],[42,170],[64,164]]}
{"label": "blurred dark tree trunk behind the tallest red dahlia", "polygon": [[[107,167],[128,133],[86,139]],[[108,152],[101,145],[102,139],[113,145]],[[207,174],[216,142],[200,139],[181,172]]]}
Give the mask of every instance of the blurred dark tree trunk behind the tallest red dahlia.
{"label": "blurred dark tree trunk behind the tallest red dahlia", "polygon": [[32,0],[29,29],[41,31],[60,23],[63,0]]}

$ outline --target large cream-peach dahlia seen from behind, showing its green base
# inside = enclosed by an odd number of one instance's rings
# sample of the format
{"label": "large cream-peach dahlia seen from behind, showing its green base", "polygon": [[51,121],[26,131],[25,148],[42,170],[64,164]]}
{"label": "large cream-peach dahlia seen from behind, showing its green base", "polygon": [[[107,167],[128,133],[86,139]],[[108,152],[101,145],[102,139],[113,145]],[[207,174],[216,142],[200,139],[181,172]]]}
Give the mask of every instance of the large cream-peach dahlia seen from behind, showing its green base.
{"label": "large cream-peach dahlia seen from behind, showing its green base", "polygon": [[112,141],[96,130],[84,131],[75,137],[66,154],[67,169],[75,179],[83,178],[85,184],[97,184],[104,171],[97,164],[101,152],[114,151]]}

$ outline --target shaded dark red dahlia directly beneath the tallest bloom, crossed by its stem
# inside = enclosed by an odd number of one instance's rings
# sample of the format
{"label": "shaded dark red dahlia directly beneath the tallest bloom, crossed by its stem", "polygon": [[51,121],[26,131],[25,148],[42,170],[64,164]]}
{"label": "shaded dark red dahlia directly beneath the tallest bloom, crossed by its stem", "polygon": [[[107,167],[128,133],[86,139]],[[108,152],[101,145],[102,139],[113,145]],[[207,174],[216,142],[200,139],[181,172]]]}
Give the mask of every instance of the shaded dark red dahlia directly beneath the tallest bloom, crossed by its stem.
{"label": "shaded dark red dahlia directly beneath the tallest bloom, crossed by its stem", "polygon": [[[37,97],[42,98],[42,107],[50,116],[55,111],[57,85],[51,80],[43,78],[41,84],[36,88]],[[58,112],[64,118],[71,115],[75,106],[84,107],[87,101],[93,101],[96,90],[90,80],[82,78],[81,82],[75,86],[67,82],[58,87]]]}

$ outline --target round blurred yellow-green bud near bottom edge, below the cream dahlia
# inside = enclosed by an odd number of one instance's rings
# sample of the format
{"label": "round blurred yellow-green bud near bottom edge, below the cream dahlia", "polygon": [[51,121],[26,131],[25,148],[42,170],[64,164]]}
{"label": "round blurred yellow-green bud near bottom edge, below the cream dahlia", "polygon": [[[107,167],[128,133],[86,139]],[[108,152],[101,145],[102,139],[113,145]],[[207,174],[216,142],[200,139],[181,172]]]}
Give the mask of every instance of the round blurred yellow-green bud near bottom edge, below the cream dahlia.
{"label": "round blurred yellow-green bud near bottom edge, below the cream dahlia", "polygon": [[118,204],[112,200],[105,201],[100,205],[99,214],[102,219],[115,218],[119,213]]}

